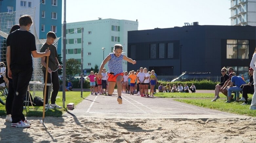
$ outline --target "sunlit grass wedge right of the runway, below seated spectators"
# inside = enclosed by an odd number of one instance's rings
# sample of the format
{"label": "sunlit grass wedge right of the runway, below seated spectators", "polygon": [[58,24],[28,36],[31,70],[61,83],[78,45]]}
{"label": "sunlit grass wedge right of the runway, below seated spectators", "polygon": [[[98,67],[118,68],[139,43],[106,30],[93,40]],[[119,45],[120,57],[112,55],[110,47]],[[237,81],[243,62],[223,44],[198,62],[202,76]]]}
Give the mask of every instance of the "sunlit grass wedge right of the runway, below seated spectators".
{"label": "sunlit grass wedge right of the runway, below seated spectators", "polygon": [[187,104],[192,104],[199,107],[205,107],[210,109],[216,109],[224,112],[235,113],[239,115],[247,115],[251,117],[256,117],[256,111],[250,110],[251,98],[248,98],[247,105],[240,105],[241,102],[237,103],[225,103],[226,98],[221,98],[216,100],[216,102],[210,102],[211,99],[174,99],[175,101],[184,102]]}

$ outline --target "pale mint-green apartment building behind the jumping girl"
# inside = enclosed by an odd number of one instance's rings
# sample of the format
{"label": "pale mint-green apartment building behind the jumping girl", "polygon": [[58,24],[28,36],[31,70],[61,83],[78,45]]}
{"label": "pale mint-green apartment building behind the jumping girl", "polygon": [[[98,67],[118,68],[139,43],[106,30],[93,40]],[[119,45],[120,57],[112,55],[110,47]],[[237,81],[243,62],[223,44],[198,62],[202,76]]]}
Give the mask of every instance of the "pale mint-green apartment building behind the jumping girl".
{"label": "pale mint-green apartment building behind the jumping girl", "polygon": [[[100,67],[103,59],[112,52],[115,44],[122,44],[123,52],[127,55],[128,31],[138,30],[138,22],[117,19],[99,19],[67,23],[67,60],[74,58],[81,62],[81,28],[84,28],[83,69],[87,69],[89,73],[90,71],[88,70],[91,67],[94,68],[95,64]],[[105,48],[104,51],[102,48]],[[105,68],[108,70],[107,64]],[[126,61],[123,62],[123,70],[127,71]]]}

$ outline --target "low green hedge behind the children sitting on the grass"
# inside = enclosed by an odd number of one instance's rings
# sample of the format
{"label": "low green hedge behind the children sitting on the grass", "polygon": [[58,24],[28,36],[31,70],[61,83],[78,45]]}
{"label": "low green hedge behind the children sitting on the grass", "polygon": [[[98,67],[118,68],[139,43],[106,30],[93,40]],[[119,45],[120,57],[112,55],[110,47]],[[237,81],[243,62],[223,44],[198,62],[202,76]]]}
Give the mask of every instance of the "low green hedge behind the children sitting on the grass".
{"label": "low green hedge behind the children sitting on the grass", "polygon": [[214,90],[215,85],[218,84],[218,82],[213,82],[211,80],[191,80],[191,81],[175,81],[175,82],[167,82],[167,81],[158,81],[157,87],[160,85],[160,83],[163,83],[164,86],[167,85],[167,83],[170,83],[170,86],[172,87],[173,84],[178,86],[177,84],[180,83],[183,87],[185,86],[185,83],[187,83],[187,86],[190,87],[192,83],[194,83],[196,89],[204,89],[204,90]]}

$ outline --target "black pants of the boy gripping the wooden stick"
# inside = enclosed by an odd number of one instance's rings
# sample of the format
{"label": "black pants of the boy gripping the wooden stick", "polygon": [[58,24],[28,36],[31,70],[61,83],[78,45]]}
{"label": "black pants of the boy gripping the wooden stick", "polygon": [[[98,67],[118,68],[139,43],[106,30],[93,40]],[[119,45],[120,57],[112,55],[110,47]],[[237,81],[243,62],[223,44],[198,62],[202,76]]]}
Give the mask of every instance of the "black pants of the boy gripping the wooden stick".
{"label": "black pants of the boy gripping the wooden stick", "polygon": [[26,96],[33,68],[28,70],[12,70],[13,102],[11,109],[12,123],[25,120],[23,115],[23,101]]}

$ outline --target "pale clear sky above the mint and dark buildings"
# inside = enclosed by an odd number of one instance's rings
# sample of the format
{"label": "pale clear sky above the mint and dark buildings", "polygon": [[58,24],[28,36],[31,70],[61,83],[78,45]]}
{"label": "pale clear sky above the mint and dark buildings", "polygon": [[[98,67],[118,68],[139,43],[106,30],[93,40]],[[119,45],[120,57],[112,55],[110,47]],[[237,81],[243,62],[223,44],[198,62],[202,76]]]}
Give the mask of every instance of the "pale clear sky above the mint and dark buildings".
{"label": "pale clear sky above the mint and dark buildings", "polygon": [[[64,2],[63,2],[64,3]],[[120,19],[139,22],[138,30],[199,25],[230,25],[230,0],[66,0],[66,21]]]}

